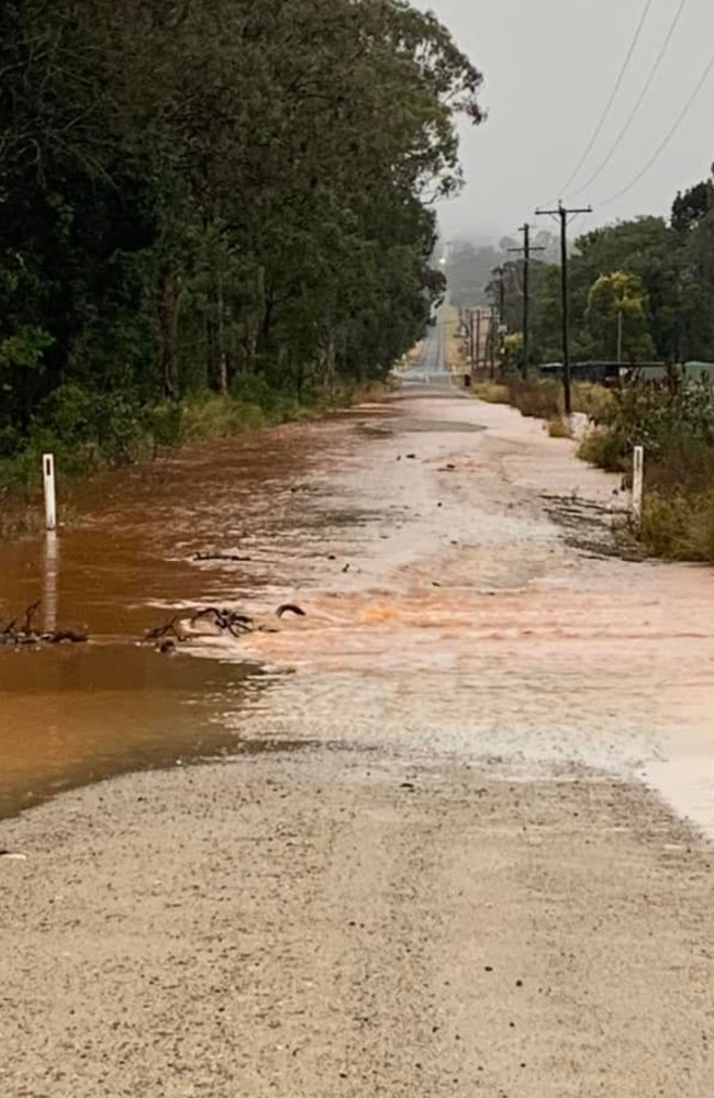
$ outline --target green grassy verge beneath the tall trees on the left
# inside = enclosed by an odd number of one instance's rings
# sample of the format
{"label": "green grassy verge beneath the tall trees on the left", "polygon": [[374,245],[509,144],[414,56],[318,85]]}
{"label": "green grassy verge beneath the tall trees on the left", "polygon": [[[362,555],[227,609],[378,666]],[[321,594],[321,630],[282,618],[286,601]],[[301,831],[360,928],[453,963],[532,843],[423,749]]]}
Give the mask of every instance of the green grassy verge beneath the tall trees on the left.
{"label": "green grassy verge beneath the tall trees on the left", "polygon": [[[231,396],[204,393],[181,402],[141,407],[121,397],[68,392],[25,445],[0,457],[0,540],[43,528],[42,455],[52,452],[65,483],[101,469],[156,459],[161,451],[211,438],[315,419],[384,393],[386,385],[336,385],[297,401],[267,388]],[[54,413],[54,414],[53,414]],[[67,517],[67,505],[63,515]],[[71,509],[71,507],[70,507]]]}

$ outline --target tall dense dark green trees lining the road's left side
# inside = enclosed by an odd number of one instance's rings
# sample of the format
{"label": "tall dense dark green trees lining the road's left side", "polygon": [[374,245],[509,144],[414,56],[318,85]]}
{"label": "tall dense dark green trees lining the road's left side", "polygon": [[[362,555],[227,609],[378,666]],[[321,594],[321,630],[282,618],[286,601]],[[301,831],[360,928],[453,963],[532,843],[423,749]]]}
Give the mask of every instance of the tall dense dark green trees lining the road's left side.
{"label": "tall dense dark green trees lining the road's left side", "polygon": [[383,376],[443,291],[480,80],[402,0],[3,0],[0,455]]}

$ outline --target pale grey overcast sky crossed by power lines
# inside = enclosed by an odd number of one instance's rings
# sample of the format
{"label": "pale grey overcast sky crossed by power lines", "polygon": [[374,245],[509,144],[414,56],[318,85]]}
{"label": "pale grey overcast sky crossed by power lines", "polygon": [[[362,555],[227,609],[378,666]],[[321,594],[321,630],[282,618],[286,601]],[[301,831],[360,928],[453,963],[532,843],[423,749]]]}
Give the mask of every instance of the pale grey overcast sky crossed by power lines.
{"label": "pale grey overcast sky crossed by power lines", "polygon": [[[536,205],[560,197],[574,205],[592,204],[595,213],[588,224],[593,227],[640,213],[666,214],[678,190],[709,175],[714,70],[655,166],[629,193],[606,202],[642,170],[714,57],[713,0],[651,0],[602,134],[562,195],[613,91],[646,0],[416,2],[446,23],[486,79],[482,103],[489,119],[465,132],[467,186],[442,210],[447,238],[468,234],[498,239],[526,219],[533,221]],[[629,134],[602,175],[576,197],[622,131],[680,3],[681,21]]]}

